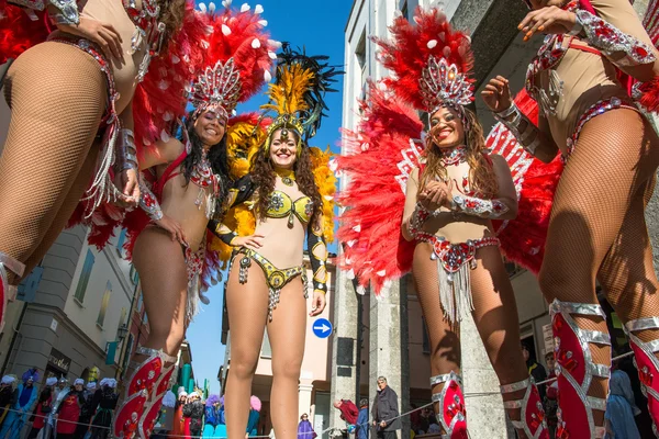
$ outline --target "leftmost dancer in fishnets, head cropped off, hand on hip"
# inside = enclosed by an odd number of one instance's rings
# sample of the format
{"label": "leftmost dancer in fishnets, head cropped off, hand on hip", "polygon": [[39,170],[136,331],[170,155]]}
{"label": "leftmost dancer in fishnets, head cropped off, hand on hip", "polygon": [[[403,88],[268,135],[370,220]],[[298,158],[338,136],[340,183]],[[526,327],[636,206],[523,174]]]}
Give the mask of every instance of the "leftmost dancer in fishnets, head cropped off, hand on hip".
{"label": "leftmost dancer in fishnets, head cropped off, hand on hip", "polygon": [[185,0],[10,3],[0,0],[0,63],[19,56],[3,89],[12,114],[0,158],[0,304],[81,198],[76,222],[103,202],[137,204],[137,149],[185,114],[191,75],[180,59],[197,63],[204,32]]}

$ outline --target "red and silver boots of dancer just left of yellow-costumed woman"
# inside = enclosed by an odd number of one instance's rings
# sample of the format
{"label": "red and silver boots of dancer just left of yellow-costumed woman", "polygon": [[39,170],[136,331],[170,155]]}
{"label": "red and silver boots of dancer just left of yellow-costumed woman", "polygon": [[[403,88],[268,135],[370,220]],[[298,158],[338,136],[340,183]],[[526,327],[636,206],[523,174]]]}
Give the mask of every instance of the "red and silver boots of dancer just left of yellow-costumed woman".
{"label": "red and silver boots of dancer just left of yellow-costumed woman", "polygon": [[[160,384],[164,383],[164,376],[167,376],[167,383],[171,378],[174,367],[170,367],[167,372],[165,370],[165,362],[175,363],[176,358],[170,357],[163,351],[139,347],[135,350],[135,353],[148,356],[148,358],[141,364],[136,364],[135,372],[131,378],[127,386],[126,399],[116,410],[112,423],[112,434],[119,439],[148,439],[148,435],[145,436],[145,429],[143,425],[144,415],[150,408],[147,403],[153,401],[153,396],[156,394]],[[164,396],[165,392],[163,392]],[[160,397],[161,401],[161,397]],[[148,425],[146,427],[149,427]],[[153,428],[150,426],[148,429]]]}

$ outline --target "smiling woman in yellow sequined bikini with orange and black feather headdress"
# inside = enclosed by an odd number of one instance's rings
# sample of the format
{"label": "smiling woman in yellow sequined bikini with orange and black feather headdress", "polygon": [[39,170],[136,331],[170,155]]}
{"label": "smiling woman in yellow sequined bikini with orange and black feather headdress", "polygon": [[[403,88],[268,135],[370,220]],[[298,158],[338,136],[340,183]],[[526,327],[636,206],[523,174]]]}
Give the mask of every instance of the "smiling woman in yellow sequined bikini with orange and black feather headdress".
{"label": "smiling woman in yellow sequined bikini with orange and black feather headdress", "polygon": [[268,91],[271,103],[263,106],[277,115],[252,160],[249,175],[237,182],[233,203],[253,206],[256,228],[249,236],[238,236],[226,225],[215,227],[235,249],[226,286],[232,372],[225,407],[232,438],[245,436],[252,380],[266,328],[272,346],[272,425],[278,438],[297,435],[308,307],[305,235],[313,271],[310,316],[323,312],[327,291],[324,235],[332,228],[327,198],[332,199],[335,179],[326,161],[322,164],[323,155],[306,146],[320,125],[328,82],[338,74],[324,59],[306,57],[284,45],[277,80]]}

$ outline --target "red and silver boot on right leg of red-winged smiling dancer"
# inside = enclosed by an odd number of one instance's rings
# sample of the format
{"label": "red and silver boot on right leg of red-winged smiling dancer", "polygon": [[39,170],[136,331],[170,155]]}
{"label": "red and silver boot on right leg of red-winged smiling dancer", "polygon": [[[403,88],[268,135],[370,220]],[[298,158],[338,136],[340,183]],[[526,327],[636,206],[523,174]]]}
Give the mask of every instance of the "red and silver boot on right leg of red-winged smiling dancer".
{"label": "red and silver boot on right leg of red-winged smiling dancer", "polygon": [[501,393],[515,393],[526,389],[522,399],[505,401],[503,406],[509,410],[520,409],[521,420],[511,420],[513,426],[524,431],[528,439],[549,439],[549,429],[545,420],[545,409],[540,401],[538,387],[532,382],[530,376],[513,384],[501,386]]}

